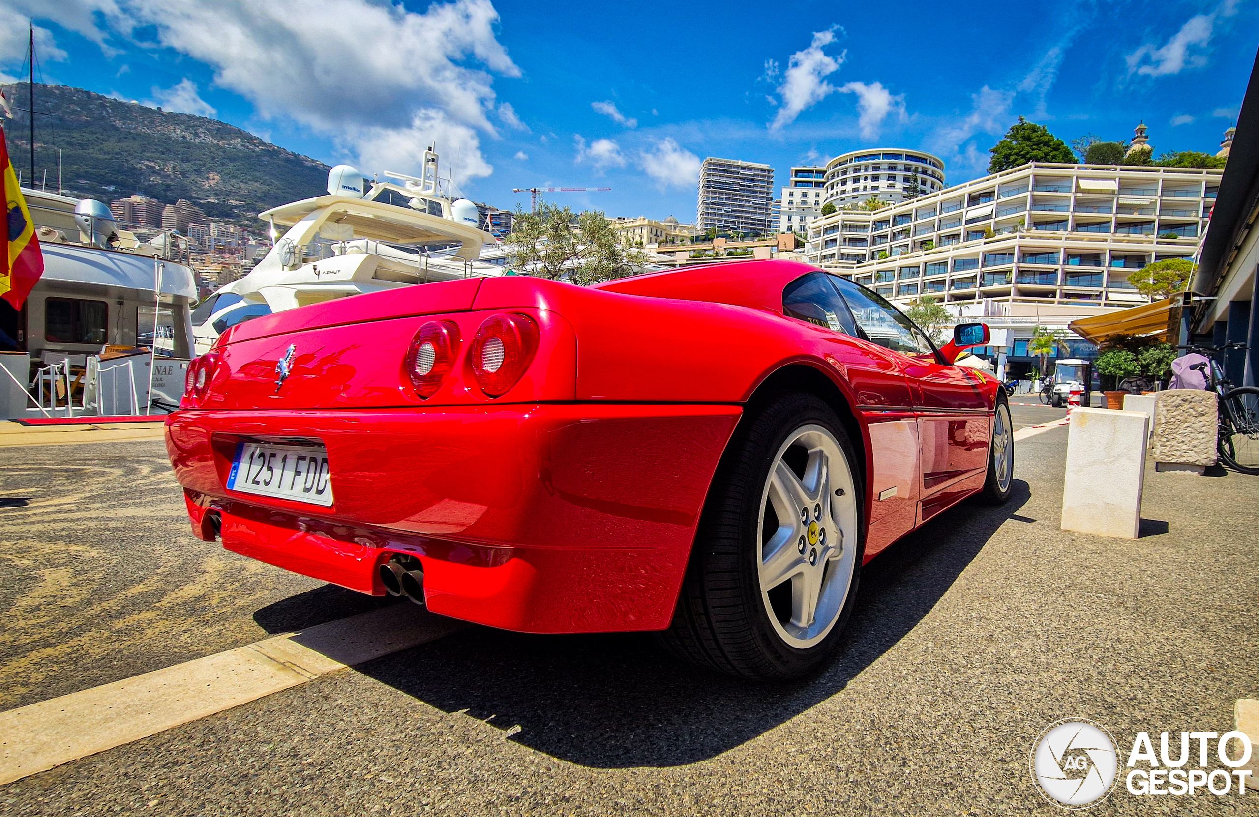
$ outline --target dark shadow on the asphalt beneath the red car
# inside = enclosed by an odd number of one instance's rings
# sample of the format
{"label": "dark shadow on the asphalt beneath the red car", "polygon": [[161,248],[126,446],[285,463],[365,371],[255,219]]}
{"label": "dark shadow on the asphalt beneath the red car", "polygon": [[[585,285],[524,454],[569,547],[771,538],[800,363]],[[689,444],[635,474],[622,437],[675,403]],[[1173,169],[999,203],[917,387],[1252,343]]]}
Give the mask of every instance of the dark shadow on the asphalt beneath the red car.
{"label": "dark shadow on the asphalt beneath the red car", "polygon": [[[1029,495],[1027,484],[1016,480],[1008,504],[966,502],[870,562],[847,642],[826,670],[805,681],[757,684],[699,670],[665,655],[650,633],[529,636],[486,627],[358,669],[441,710],[466,711],[512,730],[512,740],[573,763],[694,763],[842,690],[935,606]],[[291,620],[319,592],[290,600],[292,611],[277,610],[288,602],[273,605],[268,622]]]}

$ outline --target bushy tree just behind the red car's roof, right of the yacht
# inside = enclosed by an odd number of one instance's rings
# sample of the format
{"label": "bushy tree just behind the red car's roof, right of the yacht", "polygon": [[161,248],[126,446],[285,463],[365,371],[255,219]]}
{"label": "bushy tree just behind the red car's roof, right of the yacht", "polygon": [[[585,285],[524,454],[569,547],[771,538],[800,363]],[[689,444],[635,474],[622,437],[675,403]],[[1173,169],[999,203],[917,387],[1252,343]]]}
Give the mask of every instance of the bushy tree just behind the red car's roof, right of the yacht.
{"label": "bushy tree just behind the red car's roof, right of the yacht", "polygon": [[509,260],[526,275],[596,284],[638,271],[647,254],[612,229],[597,210],[577,216],[570,207],[541,201],[536,212],[516,210]]}

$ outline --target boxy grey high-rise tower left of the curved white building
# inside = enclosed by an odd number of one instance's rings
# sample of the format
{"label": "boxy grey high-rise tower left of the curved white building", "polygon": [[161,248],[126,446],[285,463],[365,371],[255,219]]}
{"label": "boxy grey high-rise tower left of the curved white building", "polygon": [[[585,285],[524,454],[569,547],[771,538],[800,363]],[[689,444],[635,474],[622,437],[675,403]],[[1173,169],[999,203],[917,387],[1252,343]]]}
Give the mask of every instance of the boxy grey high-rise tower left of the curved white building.
{"label": "boxy grey high-rise tower left of the curved white building", "polygon": [[709,156],[700,166],[695,226],[740,235],[769,235],[774,170],[769,165]]}

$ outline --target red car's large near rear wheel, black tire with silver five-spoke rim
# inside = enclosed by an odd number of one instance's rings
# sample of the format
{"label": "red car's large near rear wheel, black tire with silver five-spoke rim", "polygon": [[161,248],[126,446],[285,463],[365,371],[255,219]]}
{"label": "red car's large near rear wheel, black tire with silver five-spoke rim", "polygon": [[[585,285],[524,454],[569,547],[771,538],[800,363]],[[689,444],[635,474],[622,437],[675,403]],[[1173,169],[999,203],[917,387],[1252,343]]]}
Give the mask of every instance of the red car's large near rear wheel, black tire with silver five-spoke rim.
{"label": "red car's large near rear wheel, black tire with silver five-spoke rim", "polygon": [[816,670],[856,597],[856,461],[838,417],[812,395],[750,410],[714,480],[665,646],[745,677]]}

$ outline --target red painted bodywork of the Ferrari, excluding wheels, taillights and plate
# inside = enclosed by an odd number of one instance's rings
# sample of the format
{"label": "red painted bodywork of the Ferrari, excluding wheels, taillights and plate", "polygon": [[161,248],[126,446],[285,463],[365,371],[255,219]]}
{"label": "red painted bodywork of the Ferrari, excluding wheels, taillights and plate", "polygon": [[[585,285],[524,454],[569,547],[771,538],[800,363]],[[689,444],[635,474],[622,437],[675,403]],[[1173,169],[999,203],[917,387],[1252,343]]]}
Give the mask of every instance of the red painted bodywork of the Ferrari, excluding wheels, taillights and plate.
{"label": "red painted bodywork of the Ferrari, excluding wheels, taillights and plate", "polygon": [[[815,271],[467,279],[239,324],[167,420],[194,530],[213,540],[217,514],[229,549],[373,595],[378,566],[412,554],[431,610],[496,627],[660,630],[743,403],[805,366],[856,420],[872,558],[982,488],[997,383],[784,317],[784,287]],[[515,386],[486,396],[461,352],[432,397],[415,393],[403,362],[421,326],[448,322],[466,351],[505,312],[540,331]],[[325,445],[335,504],[228,490],[242,440]]]}

